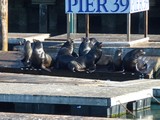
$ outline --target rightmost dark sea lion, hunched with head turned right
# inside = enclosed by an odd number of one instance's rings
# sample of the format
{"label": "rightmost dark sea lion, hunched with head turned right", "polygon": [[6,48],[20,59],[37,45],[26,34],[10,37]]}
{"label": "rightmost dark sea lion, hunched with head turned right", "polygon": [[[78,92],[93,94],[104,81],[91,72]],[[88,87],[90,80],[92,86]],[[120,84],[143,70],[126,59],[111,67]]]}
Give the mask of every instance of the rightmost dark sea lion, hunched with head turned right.
{"label": "rightmost dark sea lion, hunched with head turned right", "polygon": [[123,58],[123,67],[125,71],[129,72],[138,72],[140,69],[144,69],[142,61],[138,61],[140,56],[145,55],[145,52],[142,49],[134,49],[128,52]]}

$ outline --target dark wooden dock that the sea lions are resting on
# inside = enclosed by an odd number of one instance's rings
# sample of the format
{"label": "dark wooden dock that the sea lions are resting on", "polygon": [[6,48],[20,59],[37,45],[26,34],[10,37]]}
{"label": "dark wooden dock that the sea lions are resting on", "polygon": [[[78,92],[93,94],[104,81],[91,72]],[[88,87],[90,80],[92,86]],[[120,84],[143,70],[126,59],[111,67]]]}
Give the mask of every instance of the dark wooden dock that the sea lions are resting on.
{"label": "dark wooden dock that the sea lions are resting on", "polygon": [[[21,59],[23,58],[22,52],[10,51],[0,52],[0,72],[8,73],[23,73],[23,74],[36,74],[36,75],[50,75],[62,77],[75,77],[75,78],[88,78],[112,81],[126,81],[142,78],[152,78],[153,71],[147,73],[130,73],[130,72],[110,72],[107,69],[97,69],[94,73],[86,72],[73,72],[68,70],[52,69],[52,72],[44,71],[42,69],[26,68],[24,67]],[[153,66],[155,64],[153,63]]]}

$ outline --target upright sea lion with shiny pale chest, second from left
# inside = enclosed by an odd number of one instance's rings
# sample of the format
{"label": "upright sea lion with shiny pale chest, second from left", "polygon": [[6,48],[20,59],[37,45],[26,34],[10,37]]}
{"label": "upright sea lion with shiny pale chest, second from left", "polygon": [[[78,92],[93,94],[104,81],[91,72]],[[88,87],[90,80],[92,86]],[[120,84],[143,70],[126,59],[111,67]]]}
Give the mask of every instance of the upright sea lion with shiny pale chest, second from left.
{"label": "upright sea lion with shiny pale chest, second from left", "polygon": [[53,62],[53,58],[45,53],[42,42],[34,40],[31,65],[34,68],[40,68],[50,72],[51,70],[49,68],[53,65]]}

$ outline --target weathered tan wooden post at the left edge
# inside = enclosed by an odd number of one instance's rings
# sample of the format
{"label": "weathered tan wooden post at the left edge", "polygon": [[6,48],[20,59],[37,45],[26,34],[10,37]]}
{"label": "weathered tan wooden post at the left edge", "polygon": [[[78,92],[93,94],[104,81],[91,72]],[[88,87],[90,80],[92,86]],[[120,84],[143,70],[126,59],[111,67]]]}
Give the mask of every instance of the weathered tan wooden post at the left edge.
{"label": "weathered tan wooden post at the left edge", "polygon": [[8,51],[8,0],[0,0],[0,44]]}

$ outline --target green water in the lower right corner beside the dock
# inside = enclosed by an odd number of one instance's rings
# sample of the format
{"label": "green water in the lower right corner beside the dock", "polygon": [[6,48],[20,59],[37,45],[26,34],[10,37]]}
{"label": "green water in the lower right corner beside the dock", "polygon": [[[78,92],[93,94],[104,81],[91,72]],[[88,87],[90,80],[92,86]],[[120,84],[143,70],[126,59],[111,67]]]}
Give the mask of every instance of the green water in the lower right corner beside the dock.
{"label": "green water in the lower right corner beside the dock", "polygon": [[121,119],[133,119],[133,120],[160,120],[160,104],[154,104],[151,108],[133,112],[135,117],[130,114],[122,115]]}

